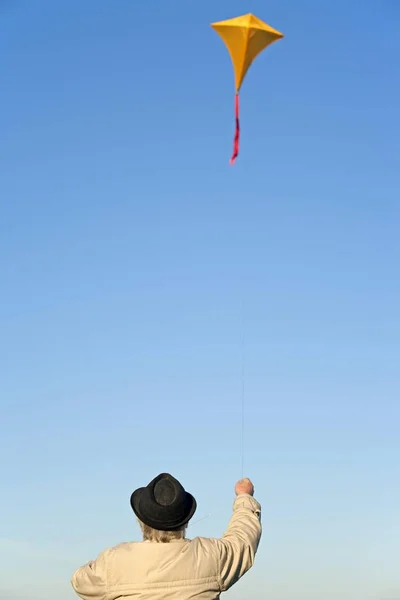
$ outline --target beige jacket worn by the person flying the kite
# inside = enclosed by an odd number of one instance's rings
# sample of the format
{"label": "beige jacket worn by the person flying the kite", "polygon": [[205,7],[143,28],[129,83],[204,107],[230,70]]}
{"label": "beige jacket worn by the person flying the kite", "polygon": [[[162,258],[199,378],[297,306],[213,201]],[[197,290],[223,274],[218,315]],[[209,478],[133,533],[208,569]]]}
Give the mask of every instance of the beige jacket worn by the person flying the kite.
{"label": "beige jacket worn by the person flying the kite", "polygon": [[120,544],[80,567],[71,583],[83,600],[215,600],[253,566],[260,538],[261,506],[240,494],[220,539]]}

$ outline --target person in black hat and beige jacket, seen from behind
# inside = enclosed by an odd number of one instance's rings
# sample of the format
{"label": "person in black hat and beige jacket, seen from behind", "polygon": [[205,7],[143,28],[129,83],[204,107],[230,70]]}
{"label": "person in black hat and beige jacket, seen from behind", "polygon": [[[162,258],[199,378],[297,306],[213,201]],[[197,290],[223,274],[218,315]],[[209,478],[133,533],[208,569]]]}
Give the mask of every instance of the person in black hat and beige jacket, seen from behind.
{"label": "person in black hat and beige jacket, seen from behind", "polygon": [[235,486],[227,530],[219,538],[185,536],[195,498],[161,473],[135,490],[131,507],[142,542],[120,544],[80,567],[71,583],[83,600],[215,600],[254,564],[261,538],[261,507],[249,479]]}

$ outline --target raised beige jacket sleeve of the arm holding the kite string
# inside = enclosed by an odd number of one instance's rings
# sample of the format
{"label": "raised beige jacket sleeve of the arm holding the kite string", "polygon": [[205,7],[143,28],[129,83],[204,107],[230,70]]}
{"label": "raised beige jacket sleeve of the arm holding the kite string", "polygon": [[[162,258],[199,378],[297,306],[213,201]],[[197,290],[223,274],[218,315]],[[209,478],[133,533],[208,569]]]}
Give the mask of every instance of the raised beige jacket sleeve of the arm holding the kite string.
{"label": "raised beige jacket sleeve of the arm holding the kite string", "polygon": [[261,533],[260,504],[249,494],[240,494],[233,504],[228,528],[217,541],[221,592],[253,566]]}

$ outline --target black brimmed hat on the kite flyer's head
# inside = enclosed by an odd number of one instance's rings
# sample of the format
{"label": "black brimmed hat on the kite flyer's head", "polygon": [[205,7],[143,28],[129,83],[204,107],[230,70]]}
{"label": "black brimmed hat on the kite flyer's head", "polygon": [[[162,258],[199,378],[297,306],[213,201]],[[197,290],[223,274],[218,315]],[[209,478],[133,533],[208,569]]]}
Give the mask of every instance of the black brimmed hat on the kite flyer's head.
{"label": "black brimmed hat on the kite flyer's head", "polygon": [[131,507],[144,523],[161,531],[179,529],[193,517],[195,498],[169,473],[160,473],[131,495]]}

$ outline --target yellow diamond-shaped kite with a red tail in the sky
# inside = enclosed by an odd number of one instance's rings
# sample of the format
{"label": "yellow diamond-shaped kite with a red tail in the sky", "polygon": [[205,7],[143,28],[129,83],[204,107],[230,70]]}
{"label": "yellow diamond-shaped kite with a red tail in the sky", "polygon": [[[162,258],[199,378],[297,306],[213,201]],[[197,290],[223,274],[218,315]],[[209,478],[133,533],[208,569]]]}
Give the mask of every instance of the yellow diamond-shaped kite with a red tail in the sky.
{"label": "yellow diamond-shaped kite with a red tail in the sky", "polygon": [[239,154],[239,91],[254,59],[267,46],[283,38],[283,34],[273,29],[252,14],[211,23],[211,27],[221,36],[232,59],[235,71],[235,112],[236,133],[231,164]]}

